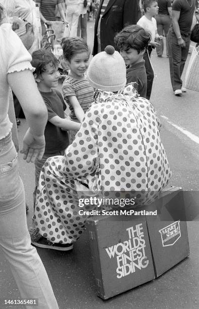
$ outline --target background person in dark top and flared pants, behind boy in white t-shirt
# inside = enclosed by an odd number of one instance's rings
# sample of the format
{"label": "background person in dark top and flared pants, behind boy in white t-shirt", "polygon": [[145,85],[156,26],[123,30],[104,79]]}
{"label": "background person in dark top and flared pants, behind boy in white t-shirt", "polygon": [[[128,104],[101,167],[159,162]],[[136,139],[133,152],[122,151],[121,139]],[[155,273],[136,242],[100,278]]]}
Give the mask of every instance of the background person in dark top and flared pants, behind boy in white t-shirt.
{"label": "background person in dark top and flared pants, behind boy in white t-shirt", "polygon": [[[167,57],[169,57],[167,33],[169,31],[172,18],[171,0],[157,0],[157,1],[159,7],[158,15],[155,16],[157,22],[157,30],[159,35],[165,36],[166,38],[166,55]],[[156,47],[158,57],[162,57],[163,50],[164,50],[164,42],[163,40],[160,40],[160,46]]]}

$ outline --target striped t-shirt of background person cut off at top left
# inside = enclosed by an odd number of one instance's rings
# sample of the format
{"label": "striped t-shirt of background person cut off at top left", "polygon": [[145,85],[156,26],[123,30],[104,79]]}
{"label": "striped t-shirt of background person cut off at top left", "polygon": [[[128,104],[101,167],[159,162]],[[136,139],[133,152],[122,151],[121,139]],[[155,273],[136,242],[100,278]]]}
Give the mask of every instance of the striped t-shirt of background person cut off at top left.
{"label": "striped t-shirt of background person cut off at top left", "polygon": [[62,3],[63,0],[36,0],[40,4],[41,14],[46,20],[56,20],[56,5]]}

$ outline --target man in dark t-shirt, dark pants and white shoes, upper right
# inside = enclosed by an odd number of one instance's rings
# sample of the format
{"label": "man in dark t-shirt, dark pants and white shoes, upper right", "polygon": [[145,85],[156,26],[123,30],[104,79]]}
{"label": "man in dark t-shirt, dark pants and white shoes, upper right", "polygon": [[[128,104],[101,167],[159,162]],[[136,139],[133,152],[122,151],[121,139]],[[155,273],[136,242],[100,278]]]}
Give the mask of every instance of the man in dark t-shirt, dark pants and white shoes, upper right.
{"label": "man in dark t-shirt, dark pants and white shoes, upper right", "polygon": [[167,40],[171,84],[175,95],[186,92],[182,87],[181,75],[188,55],[191,24],[195,0],[174,0],[172,5],[172,24]]}

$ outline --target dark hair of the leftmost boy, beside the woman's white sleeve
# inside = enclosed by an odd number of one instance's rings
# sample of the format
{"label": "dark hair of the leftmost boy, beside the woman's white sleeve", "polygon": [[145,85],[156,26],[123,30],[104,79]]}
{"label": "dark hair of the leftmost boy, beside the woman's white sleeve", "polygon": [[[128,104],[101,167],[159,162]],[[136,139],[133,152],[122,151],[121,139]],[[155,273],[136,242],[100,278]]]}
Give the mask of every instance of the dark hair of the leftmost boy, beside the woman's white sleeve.
{"label": "dark hair of the leftmost boy, beside the woman's white sleeve", "polygon": [[35,68],[34,74],[41,75],[46,71],[46,66],[50,64],[54,68],[58,67],[59,61],[47,49],[37,49],[32,54],[31,65]]}

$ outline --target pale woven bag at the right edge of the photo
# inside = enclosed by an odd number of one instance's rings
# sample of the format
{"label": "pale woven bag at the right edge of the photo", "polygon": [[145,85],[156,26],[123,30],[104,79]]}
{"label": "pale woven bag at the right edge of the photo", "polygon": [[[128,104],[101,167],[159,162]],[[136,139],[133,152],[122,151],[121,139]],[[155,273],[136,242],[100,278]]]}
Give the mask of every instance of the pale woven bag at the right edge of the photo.
{"label": "pale woven bag at the right edge of the photo", "polygon": [[199,46],[193,47],[185,74],[185,87],[199,91]]}

